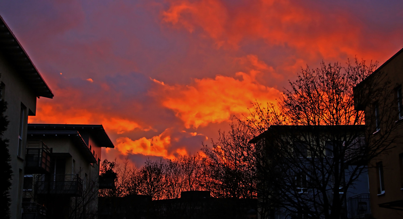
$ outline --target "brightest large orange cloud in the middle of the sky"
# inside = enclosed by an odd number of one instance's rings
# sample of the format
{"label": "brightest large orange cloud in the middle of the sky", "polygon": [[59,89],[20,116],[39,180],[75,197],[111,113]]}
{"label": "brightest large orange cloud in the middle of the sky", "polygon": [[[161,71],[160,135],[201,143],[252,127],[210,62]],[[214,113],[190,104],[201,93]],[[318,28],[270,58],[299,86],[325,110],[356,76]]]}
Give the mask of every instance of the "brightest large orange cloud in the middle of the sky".
{"label": "brightest large orange cloud in the middle of the sky", "polygon": [[[256,56],[247,56],[245,60],[260,69],[270,69]],[[209,123],[226,122],[232,115],[248,114],[248,106],[255,100],[260,103],[274,102],[280,92],[267,87],[256,80],[258,70],[249,73],[237,72],[234,77],[216,75],[214,79],[195,79],[192,85],[166,85],[154,79],[159,85],[157,96],[162,105],[172,109],[186,128],[206,126]]]}

